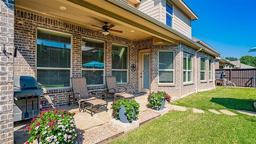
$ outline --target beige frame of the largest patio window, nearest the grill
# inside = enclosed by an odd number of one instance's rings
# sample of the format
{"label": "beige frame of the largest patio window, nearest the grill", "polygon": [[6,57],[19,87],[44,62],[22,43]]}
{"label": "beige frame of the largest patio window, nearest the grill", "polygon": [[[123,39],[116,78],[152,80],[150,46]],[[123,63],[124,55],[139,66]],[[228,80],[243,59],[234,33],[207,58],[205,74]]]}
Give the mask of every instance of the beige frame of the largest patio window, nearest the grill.
{"label": "beige frame of the largest patio window, nearest the grill", "polygon": [[[37,67],[37,31],[38,30],[44,30],[44,31],[49,31],[50,33],[57,33],[57,34],[61,34],[61,35],[66,35],[66,36],[70,36],[70,67],[69,68],[57,68],[57,67]],[[52,29],[47,29],[47,28],[42,28],[42,27],[36,27],[36,36],[35,36],[35,78],[37,79],[37,69],[52,69],[52,70],[69,70],[70,72],[70,76],[69,79],[72,77],[72,73],[73,73],[73,65],[72,65],[72,61],[73,61],[73,35],[70,33],[64,33],[62,31],[57,31],[57,30],[52,30]],[[46,90],[56,90],[56,89],[68,89],[72,87],[72,83],[71,81],[69,82],[69,86],[62,86],[62,87],[47,87],[44,88]]]}

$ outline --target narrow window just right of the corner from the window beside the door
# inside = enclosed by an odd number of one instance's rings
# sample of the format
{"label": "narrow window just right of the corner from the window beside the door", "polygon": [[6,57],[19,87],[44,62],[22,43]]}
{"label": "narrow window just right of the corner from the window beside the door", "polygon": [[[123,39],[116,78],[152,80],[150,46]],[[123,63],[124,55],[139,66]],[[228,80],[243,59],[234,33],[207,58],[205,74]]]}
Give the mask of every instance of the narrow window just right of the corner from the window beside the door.
{"label": "narrow window just right of the corner from the window beside the door", "polygon": [[183,53],[183,82],[192,81],[192,55]]}

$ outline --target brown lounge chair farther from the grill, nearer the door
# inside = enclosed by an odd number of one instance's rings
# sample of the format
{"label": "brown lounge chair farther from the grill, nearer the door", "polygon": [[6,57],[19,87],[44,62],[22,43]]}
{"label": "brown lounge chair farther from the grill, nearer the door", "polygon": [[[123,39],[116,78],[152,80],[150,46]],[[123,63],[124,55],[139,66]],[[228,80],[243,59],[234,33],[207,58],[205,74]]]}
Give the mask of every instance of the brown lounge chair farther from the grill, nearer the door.
{"label": "brown lounge chair farther from the grill, nearer the door", "polygon": [[[134,99],[134,95],[126,93],[127,89],[126,87],[119,87],[116,84],[116,77],[114,76],[106,76],[107,81],[107,93],[114,96],[114,100],[117,99],[117,97],[121,97],[124,99]],[[124,89],[122,91],[122,89]]]}

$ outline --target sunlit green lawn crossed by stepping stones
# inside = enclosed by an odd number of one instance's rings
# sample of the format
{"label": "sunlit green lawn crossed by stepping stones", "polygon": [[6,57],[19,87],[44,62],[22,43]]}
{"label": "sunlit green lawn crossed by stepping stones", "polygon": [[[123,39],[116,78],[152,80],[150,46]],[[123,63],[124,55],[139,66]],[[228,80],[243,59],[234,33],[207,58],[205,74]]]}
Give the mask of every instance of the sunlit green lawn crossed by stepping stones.
{"label": "sunlit green lawn crossed by stepping stones", "polygon": [[[174,102],[198,109],[254,110],[255,89],[217,87]],[[255,143],[256,117],[174,111],[110,143]]]}

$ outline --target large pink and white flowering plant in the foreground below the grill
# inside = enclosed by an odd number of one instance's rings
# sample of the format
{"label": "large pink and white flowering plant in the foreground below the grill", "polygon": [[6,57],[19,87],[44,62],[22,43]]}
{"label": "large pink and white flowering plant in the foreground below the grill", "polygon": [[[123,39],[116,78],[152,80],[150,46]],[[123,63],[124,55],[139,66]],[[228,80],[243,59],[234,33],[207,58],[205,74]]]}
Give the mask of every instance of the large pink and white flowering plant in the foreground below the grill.
{"label": "large pink and white flowering plant in the foreground below the grill", "polygon": [[45,110],[33,118],[24,130],[31,135],[26,143],[38,139],[40,143],[73,143],[75,134],[75,113],[66,110]]}

